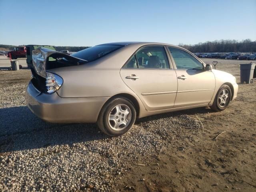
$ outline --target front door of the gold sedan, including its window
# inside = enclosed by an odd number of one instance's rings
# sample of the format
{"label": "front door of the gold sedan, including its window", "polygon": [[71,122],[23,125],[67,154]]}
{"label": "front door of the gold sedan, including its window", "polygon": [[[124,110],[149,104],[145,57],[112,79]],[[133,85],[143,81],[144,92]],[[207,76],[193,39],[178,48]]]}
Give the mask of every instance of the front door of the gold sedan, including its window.
{"label": "front door of the gold sedan, including its window", "polygon": [[208,104],[215,90],[213,72],[205,71],[202,62],[185,50],[171,46],[168,50],[174,61],[178,80],[174,107]]}

